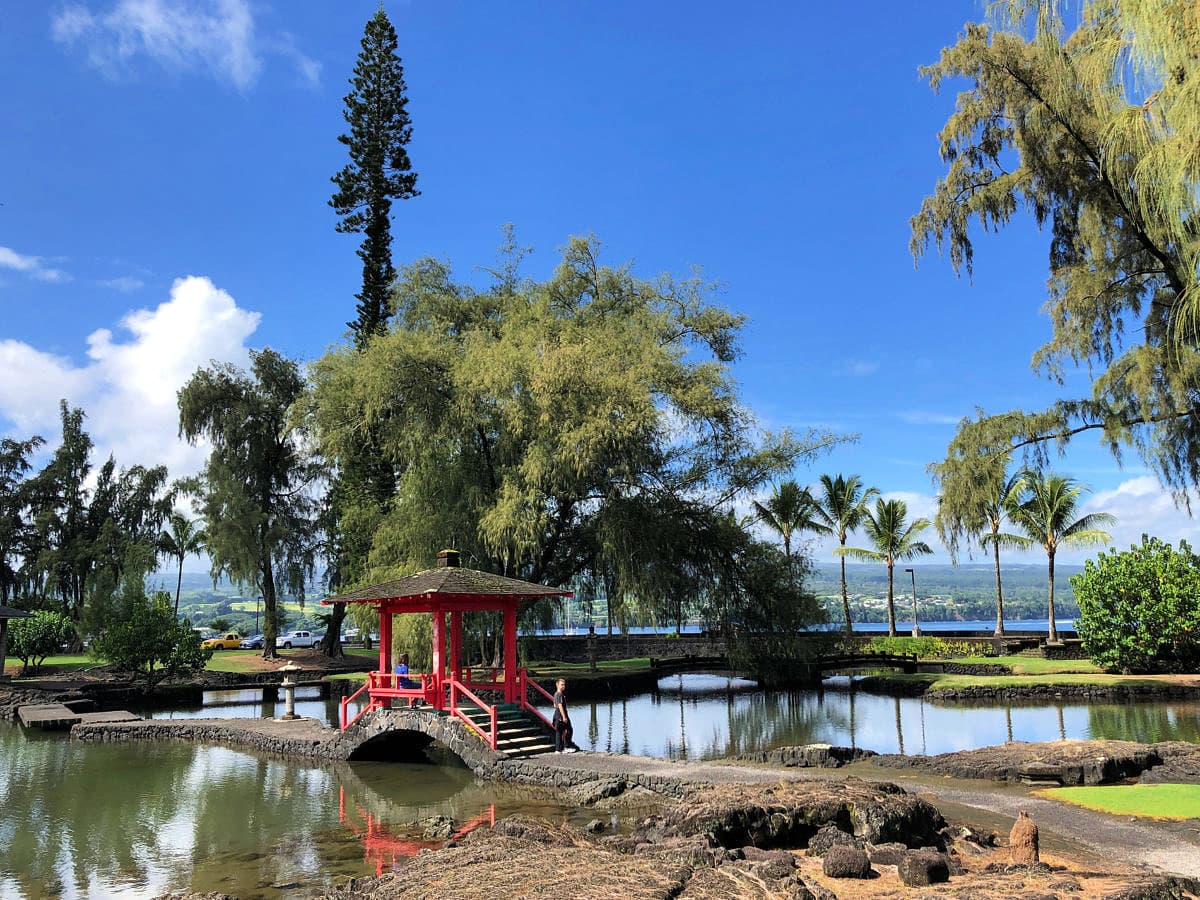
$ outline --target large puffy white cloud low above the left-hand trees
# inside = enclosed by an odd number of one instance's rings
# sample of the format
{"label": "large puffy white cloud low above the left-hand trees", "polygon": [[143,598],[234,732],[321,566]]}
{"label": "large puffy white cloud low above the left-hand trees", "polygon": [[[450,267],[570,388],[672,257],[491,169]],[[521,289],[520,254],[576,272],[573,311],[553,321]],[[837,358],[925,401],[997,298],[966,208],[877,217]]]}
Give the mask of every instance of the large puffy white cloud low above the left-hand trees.
{"label": "large puffy white cloud low above the left-hand trees", "polygon": [[178,280],[154,310],[128,313],[118,335],[92,332],[85,365],[0,341],[0,416],[19,436],[38,432],[53,444],[59,400],[66,398],[86,413],[97,460],[112,452],[120,466],[164,463],[172,476],[193,473],[205,450],[179,439],[175,395],[212,360],[245,365],[246,338],[259,319],[208,278],[192,276]]}

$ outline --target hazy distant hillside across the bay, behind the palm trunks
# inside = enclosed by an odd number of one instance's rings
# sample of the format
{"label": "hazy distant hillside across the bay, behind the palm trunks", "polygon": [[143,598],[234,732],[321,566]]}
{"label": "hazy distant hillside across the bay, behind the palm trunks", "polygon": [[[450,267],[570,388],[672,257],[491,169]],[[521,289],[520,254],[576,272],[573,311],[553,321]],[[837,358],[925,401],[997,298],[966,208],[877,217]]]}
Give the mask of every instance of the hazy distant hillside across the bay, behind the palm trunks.
{"label": "hazy distant hillside across the bay, behind the palm trunks", "polygon": [[[916,563],[917,598],[922,616],[929,619],[966,620],[990,619],[996,616],[996,572],[986,563],[937,565]],[[898,613],[912,602],[912,581],[896,565],[893,586]],[[1055,566],[1055,612],[1063,618],[1079,613],[1070,576],[1081,572],[1081,565]],[[1004,617],[1037,619],[1046,614],[1046,566],[1002,565]],[[822,599],[834,620],[841,618],[841,570],[838,563],[820,563],[808,580],[809,588]],[[887,619],[887,568],[880,564],[847,564],[846,587],[851,598],[851,614],[858,622]]]}

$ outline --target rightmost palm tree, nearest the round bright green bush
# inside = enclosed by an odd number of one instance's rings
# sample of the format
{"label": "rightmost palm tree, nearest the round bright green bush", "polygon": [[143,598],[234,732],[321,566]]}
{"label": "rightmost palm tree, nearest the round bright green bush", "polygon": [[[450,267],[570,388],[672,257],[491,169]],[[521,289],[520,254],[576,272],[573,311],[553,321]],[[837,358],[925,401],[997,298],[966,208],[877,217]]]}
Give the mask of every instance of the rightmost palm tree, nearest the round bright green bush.
{"label": "rightmost palm tree, nearest the round bright green bush", "polygon": [[[1087,487],[1073,478],[1026,469],[1021,496],[1008,509],[1008,517],[1028,536],[1031,544],[1040,545],[1046,552],[1050,570],[1049,643],[1058,643],[1058,628],[1054,618],[1054,558],[1060,547],[1093,547],[1112,540],[1100,526],[1112,524],[1116,518],[1108,512],[1090,512],[1075,518],[1080,499]],[[1074,520],[1074,521],[1072,521]]]}

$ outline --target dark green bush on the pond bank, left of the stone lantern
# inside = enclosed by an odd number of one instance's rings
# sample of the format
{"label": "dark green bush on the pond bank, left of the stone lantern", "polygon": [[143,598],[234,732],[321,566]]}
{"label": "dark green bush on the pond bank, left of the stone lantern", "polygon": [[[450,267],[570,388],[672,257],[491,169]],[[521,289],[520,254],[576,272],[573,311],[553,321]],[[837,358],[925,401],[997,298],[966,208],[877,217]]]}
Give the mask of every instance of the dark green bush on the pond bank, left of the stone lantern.
{"label": "dark green bush on the pond bank, left of the stone lantern", "polygon": [[131,598],[122,617],[109,623],[91,652],[119,672],[138,674],[148,689],[166,678],[198,672],[212,656],[212,650],[200,649],[192,624],[175,619],[166,592]]}

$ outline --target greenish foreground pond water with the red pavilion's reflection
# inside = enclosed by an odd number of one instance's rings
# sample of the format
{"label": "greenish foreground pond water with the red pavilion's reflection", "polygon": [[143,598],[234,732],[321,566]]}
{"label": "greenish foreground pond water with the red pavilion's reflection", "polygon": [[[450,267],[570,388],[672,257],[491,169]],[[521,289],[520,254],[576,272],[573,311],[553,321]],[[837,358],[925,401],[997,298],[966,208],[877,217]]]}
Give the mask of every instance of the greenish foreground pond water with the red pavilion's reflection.
{"label": "greenish foreground pond water with the red pavilion's reflection", "polygon": [[[184,743],[78,744],[0,724],[0,896],[308,896],[383,871],[424,820],[587,810],[461,767],[260,758]],[[482,816],[482,818],[481,818]]]}

